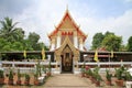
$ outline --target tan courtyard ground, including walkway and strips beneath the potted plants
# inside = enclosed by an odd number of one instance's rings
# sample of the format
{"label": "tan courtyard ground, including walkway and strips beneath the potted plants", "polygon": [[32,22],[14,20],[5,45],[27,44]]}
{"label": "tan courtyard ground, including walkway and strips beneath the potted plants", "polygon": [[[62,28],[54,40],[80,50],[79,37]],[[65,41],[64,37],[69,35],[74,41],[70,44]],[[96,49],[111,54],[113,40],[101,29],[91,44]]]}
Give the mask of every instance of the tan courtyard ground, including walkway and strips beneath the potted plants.
{"label": "tan courtyard ground, including walkway and strips beneath the potted plants", "polygon": [[[81,77],[79,74],[59,74],[59,75],[52,75],[45,81],[45,84],[41,86],[34,86],[33,77],[31,78],[30,86],[9,86],[3,85],[0,88],[121,88],[114,84],[116,78],[112,78],[112,86],[106,86],[105,82],[105,74],[101,74],[103,81],[101,81],[100,87],[96,87],[95,84],[91,84],[89,78]],[[14,78],[15,79],[15,78]],[[8,79],[6,79],[7,82]],[[125,88],[125,87],[122,87]]]}

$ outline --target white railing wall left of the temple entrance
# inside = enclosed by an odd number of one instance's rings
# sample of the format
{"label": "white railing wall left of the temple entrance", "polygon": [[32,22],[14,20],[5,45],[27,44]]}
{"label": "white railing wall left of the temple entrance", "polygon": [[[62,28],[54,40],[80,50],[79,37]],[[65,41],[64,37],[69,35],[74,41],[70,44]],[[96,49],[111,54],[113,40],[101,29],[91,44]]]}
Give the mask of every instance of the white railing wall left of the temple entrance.
{"label": "white railing wall left of the temple entrance", "polygon": [[[3,69],[6,73],[9,73],[9,69],[12,68],[14,72],[20,69],[21,73],[32,73],[35,70],[35,65],[37,62],[0,62],[0,69]],[[50,62],[41,62],[41,65],[48,66]],[[51,63],[52,66],[55,66],[57,63]],[[55,70],[54,68],[52,70]]]}

